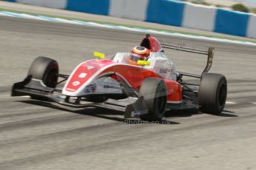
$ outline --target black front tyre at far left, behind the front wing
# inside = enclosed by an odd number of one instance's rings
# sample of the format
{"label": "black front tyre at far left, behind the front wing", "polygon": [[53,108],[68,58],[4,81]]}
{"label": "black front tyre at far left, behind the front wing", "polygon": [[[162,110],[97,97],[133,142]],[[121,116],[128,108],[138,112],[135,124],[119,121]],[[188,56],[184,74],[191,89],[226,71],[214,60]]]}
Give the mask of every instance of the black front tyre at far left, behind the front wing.
{"label": "black front tyre at far left, behind the front wing", "polygon": [[[59,65],[57,61],[47,58],[38,57],[30,65],[27,75],[32,75],[32,78],[41,80],[45,86],[55,88],[58,82]],[[30,95],[31,98],[46,100],[46,98]]]}

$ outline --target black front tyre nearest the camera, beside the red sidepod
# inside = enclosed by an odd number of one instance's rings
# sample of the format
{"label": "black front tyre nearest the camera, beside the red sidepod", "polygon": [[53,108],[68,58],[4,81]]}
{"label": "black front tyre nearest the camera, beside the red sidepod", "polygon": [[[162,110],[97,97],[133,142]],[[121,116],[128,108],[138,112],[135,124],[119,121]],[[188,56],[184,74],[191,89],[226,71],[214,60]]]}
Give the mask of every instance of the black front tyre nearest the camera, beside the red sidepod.
{"label": "black front tyre nearest the camera, beside the red sidepod", "polygon": [[139,96],[142,96],[148,107],[148,114],[140,116],[141,120],[162,120],[167,102],[165,82],[158,78],[146,78],[140,87]]}

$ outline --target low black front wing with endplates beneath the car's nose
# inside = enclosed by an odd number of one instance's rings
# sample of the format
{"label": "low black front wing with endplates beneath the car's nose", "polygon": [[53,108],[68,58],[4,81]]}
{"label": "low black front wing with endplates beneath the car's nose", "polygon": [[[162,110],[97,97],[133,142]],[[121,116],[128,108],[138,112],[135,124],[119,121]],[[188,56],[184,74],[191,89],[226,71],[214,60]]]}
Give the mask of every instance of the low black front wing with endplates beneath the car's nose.
{"label": "low black front wing with endplates beneath the car's nose", "polygon": [[125,118],[140,117],[148,114],[148,108],[142,97],[126,98],[123,100],[108,99],[103,103],[93,103],[83,100],[81,96],[70,97],[62,95],[61,89],[55,89],[45,86],[41,80],[33,79],[30,75],[24,81],[13,84],[11,96],[30,95],[33,98],[39,98],[47,101],[54,101],[64,106],[75,108],[85,108],[87,106],[98,106],[107,109],[115,109],[125,112]]}

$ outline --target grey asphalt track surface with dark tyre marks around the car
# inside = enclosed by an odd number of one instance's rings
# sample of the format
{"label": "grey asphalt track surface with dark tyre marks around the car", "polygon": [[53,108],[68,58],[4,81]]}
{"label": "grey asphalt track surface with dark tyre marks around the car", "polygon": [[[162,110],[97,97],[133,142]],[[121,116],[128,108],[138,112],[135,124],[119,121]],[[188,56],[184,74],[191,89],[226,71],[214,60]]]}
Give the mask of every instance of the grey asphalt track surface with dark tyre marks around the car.
{"label": "grey asphalt track surface with dark tyre marks around the car", "polygon": [[[163,123],[125,122],[122,112],[70,109],[10,97],[31,61],[45,55],[69,74],[93,51],[131,50],[142,33],[0,17],[0,169],[256,169],[256,49],[156,35],[216,47],[211,72],[229,81],[225,111],[168,112]],[[206,58],[166,50],[179,71],[199,73]]]}

